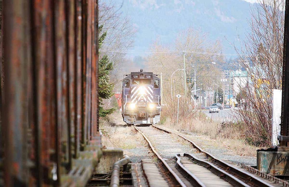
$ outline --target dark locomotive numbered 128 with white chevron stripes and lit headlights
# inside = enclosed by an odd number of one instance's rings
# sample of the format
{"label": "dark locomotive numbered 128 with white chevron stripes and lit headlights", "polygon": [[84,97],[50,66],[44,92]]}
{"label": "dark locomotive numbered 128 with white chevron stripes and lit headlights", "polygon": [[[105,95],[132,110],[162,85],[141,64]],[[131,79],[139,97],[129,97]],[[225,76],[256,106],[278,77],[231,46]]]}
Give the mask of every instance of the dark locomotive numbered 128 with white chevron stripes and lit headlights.
{"label": "dark locomotive numbered 128 with white chevron stripes and lit headlights", "polygon": [[160,121],[160,79],[153,72],[131,72],[122,82],[122,116],[127,124]]}

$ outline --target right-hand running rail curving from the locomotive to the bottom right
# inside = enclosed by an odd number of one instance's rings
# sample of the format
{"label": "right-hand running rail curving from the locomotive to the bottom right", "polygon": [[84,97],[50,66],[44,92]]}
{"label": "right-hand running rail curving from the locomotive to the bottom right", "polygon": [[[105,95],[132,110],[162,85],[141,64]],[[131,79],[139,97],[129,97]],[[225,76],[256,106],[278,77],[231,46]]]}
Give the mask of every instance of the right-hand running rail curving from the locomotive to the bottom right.
{"label": "right-hand running rail curving from the locomotive to the bottom right", "polygon": [[228,173],[238,177],[239,179],[243,180],[245,183],[253,184],[253,186],[273,187],[269,183],[266,183],[265,181],[258,179],[258,177],[254,176],[250,173],[245,173],[241,169],[236,168],[236,167],[234,167],[234,166],[232,166],[232,165],[230,165],[230,164],[228,164],[222,160],[217,159],[216,157],[214,157],[210,153],[207,153],[206,151],[202,150],[197,144],[195,144],[193,141],[185,138],[183,135],[176,133],[176,132],[171,132],[171,131],[166,130],[166,129],[162,129],[162,128],[154,126],[154,125],[152,125],[152,126],[156,129],[163,131],[163,132],[178,135],[179,137],[183,138],[184,140],[190,142],[193,145],[193,147],[195,147],[200,152],[204,153],[208,159],[210,159],[212,162],[214,162],[220,168],[225,169],[226,171],[228,171]]}

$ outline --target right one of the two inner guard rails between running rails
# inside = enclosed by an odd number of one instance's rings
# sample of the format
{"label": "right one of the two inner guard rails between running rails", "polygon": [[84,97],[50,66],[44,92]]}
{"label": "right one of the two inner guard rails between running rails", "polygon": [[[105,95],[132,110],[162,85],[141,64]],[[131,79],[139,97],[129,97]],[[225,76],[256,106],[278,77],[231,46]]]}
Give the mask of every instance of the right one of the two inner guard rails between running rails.
{"label": "right one of the two inner guard rails between running rails", "polygon": [[[176,155],[176,156],[179,156],[179,155]],[[237,177],[233,176],[232,174],[227,173],[226,171],[218,168],[217,166],[213,165],[210,162],[198,159],[197,157],[195,157],[191,154],[187,154],[187,153],[184,153],[184,156],[189,157],[196,164],[206,167],[213,174],[219,176],[220,178],[224,179],[225,181],[228,181],[228,183],[232,184],[233,186],[250,187],[248,184],[244,183],[243,181],[241,181]]]}

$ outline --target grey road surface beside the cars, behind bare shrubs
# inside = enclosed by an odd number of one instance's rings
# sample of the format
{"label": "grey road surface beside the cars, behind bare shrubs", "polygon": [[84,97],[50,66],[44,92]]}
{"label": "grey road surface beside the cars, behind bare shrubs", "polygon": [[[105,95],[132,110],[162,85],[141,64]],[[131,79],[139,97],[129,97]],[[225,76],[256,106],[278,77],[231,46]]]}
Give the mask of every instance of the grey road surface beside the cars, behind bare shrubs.
{"label": "grey road surface beside the cars, behind bare shrubs", "polygon": [[237,115],[235,109],[223,109],[219,110],[219,113],[209,113],[209,110],[202,110],[209,118],[216,121],[233,121],[234,116]]}

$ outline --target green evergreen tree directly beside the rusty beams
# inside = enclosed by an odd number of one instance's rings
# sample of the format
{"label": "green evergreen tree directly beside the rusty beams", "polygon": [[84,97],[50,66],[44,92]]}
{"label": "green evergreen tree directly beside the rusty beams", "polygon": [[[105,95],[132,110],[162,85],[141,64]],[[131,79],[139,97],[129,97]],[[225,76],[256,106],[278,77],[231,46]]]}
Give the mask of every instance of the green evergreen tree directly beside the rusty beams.
{"label": "green evergreen tree directly beside the rusty beams", "polygon": [[[101,32],[103,25],[98,28]],[[101,34],[98,39],[98,48],[102,47],[103,41],[107,35],[107,32]],[[113,69],[113,63],[110,62],[109,57],[104,55],[98,63],[98,98],[99,98],[99,116],[105,117],[115,111],[116,108],[104,109],[102,107],[102,100],[109,99],[113,96],[113,84],[110,83],[110,71]]]}

